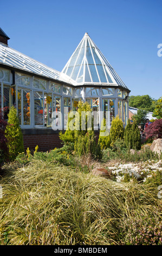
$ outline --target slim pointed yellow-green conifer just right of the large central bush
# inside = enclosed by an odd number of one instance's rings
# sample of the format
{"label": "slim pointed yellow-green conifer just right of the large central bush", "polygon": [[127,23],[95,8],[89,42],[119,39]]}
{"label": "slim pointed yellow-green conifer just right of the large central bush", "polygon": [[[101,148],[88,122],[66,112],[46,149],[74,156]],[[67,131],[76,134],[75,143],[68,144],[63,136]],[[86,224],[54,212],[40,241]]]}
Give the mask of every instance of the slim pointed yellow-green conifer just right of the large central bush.
{"label": "slim pointed yellow-green conifer just right of the large central bush", "polygon": [[[105,129],[104,129],[105,127]],[[103,136],[104,135],[104,136]],[[98,143],[100,144],[101,150],[111,147],[111,137],[106,129],[106,119],[103,118],[101,122],[101,130],[99,135]]]}

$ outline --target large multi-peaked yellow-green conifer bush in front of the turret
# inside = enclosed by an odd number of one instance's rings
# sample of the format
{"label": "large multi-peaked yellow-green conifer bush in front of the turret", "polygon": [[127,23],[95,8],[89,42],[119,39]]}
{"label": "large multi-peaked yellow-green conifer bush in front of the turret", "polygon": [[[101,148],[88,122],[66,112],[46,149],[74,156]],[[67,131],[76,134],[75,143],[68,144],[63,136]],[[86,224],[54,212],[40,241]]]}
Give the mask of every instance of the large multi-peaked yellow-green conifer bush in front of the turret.
{"label": "large multi-peaked yellow-green conifer bush in front of the turret", "polygon": [[[86,115],[81,115],[86,113]],[[92,154],[94,157],[101,157],[100,145],[96,144],[93,131],[92,109],[88,102],[79,101],[77,112],[69,113],[68,129],[65,133],[60,132],[59,137],[64,145],[71,146],[70,151],[75,149],[76,153],[81,156]],[[88,127],[88,119],[92,120],[92,127]],[[72,121],[73,120],[73,121]],[[85,125],[85,126],[84,126]],[[91,128],[91,130],[90,130]]]}

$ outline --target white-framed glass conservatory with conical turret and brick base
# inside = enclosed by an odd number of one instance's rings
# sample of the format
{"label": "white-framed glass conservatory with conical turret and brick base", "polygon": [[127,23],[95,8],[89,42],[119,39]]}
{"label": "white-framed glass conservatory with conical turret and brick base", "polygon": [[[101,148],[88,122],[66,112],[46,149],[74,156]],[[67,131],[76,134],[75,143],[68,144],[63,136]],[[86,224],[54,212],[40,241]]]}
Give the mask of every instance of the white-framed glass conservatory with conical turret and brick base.
{"label": "white-framed glass conservatory with conical turret and brick base", "polygon": [[110,124],[119,115],[126,126],[130,90],[88,33],[61,72],[9,47],[8,40],[0,28],[0,108],[8,119],[16,107],[25,148],[60,147],[59,131],[66,130],[68,112],[79,100],[97,113],[96,133],[106,112]]}

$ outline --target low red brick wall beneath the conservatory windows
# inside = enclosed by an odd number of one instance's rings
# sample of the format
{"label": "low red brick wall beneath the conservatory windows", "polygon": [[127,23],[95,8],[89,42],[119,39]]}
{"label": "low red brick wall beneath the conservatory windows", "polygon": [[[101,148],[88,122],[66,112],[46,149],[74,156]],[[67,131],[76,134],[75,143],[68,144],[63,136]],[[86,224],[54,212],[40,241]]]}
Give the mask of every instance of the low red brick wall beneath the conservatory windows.
{"label": "low red brick wall beneath the conservatory windows", "polygon": [[57,133],[23,135],[23,139],[25,150],[27,148],[35,150],[36,145],[39,147],[38,151],[48,151],[50,149],[62,147],[59,134]]}

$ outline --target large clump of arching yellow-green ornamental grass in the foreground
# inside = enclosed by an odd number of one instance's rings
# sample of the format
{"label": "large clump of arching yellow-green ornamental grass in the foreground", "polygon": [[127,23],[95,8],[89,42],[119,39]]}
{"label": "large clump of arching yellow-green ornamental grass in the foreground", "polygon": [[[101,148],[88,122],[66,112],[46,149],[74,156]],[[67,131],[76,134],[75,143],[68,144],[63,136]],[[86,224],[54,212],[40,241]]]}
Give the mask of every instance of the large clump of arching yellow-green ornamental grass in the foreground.
{"label": "large clump of arching yellow-green ornamental grass in the foreground", "polygon": [[157,214],[156,191],[33,160],[1,179],[1,245],[118,245],[120,220]]}

